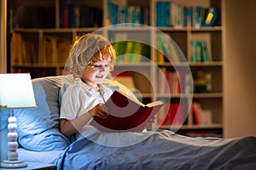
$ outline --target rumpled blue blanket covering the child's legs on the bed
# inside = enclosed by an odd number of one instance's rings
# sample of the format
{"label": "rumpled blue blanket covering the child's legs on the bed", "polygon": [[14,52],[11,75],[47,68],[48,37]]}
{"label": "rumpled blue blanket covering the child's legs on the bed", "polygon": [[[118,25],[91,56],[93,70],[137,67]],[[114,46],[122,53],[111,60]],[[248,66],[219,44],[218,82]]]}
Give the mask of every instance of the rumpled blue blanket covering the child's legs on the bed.
{"label": "rumpled blue blanket covering the child's legs on the bed", "polygon": [[[137,138],[142,140],[130,145],[125,142]],[[103,139],[106,141],[102,142]],[[117,145],[110,144],[115,141]],[[59,157],[57,167],[61,170],[255,169],[256,138],[189,138],[170,131],[96,133],[93,139],[79,139],[69,145]]]}

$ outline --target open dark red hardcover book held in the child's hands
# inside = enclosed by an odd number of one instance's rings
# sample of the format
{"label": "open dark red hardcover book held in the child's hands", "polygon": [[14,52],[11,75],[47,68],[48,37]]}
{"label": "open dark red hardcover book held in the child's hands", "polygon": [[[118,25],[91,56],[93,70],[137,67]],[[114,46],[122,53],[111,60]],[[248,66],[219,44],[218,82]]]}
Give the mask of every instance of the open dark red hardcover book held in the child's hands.
{"label": "open dark red hardcover book held in the child's hands", "polygon": [[105,103],[109,115],[102,119],[95,116],[90,125],[102,132],[142,132],[146,123],[164,105],[161,101],[143,105],[120,91],[114,91]]}

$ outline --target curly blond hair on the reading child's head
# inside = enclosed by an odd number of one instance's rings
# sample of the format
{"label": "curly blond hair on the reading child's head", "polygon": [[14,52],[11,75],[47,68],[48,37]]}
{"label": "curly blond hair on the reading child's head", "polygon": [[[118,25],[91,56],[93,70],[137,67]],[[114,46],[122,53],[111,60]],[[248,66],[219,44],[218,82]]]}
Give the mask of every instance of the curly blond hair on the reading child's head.
{"label": "curly blond hair on the reading child's head", "polygon": [[85,66],[93,66],[97,61],[109,57],[109,70],[113,70],[116,53],[111,42],[100,34],[88,33],[79,37],[69,52],[69,71],[74,78],[82,76]]}

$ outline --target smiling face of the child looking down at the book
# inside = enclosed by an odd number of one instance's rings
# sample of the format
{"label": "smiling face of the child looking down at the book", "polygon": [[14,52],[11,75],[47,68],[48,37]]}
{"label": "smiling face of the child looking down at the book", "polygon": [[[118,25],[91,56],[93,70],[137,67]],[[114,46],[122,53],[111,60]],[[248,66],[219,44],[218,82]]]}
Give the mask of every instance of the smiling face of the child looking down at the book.
{"label": "smiling face of the child looking down at the book", "polygon": [[102,83],[102,80],[107,77],[109,72],[109,59],[96,61],[92,66],[86,66],[82,75],[82,80],[92,88],[96,84]]}

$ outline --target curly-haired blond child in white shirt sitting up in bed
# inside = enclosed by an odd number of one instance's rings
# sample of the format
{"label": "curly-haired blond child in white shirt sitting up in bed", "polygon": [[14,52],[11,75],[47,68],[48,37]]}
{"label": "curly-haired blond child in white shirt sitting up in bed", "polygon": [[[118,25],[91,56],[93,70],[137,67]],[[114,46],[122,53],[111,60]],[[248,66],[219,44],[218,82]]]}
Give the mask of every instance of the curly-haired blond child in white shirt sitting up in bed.
{"label": "curly-haired blond child in white shirt sitting up in bed", "polygon": [[69,67],[75,82],[63,94],[60,130],[66,136],[90,130],[94,116],[106,118],[108,108],[103,103],[113,94],[102,80],[113,70],[116,54],[105,37],[85,34],[74,42],[70,50]]}

